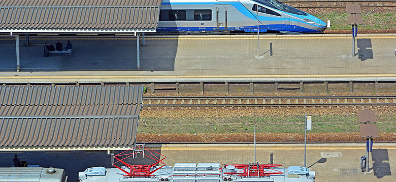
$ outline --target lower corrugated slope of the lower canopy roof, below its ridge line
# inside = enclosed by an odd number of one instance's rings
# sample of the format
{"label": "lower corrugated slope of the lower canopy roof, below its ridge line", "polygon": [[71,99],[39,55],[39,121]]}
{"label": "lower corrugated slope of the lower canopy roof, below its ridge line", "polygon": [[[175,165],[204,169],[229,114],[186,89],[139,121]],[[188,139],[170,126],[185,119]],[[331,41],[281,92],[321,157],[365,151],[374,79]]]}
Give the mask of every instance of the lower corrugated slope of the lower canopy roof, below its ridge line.
{"label": "lower corrugated slope of the lower canopy roof, below its ridge line", "polygon": [[123,146],[135,142],[138,117],[0,118],[0,146]]}

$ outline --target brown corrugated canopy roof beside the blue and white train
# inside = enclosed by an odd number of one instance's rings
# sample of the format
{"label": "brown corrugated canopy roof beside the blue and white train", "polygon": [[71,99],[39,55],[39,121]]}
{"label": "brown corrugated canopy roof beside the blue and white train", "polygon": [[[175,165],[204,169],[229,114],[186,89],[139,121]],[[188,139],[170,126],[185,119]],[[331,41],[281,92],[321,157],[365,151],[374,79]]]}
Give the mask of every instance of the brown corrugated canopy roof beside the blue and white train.
{"label": "brown corrugated canopy roof beside the blue and white train", "polygon": [[2,0],[3,33],[155,32],[162,0]]}

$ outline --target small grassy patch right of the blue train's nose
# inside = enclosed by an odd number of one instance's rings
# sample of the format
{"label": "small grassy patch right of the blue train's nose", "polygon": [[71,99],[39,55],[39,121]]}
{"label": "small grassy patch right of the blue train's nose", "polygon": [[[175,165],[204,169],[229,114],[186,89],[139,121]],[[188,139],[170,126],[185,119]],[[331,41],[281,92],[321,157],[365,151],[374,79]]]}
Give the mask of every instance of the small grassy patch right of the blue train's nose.
{"label": "small grassy patch right of the blue train's nose", "polygon": [[[352,27],[347,25],[346,13],[332,12],[323,15],[314,15],[321,20],[331,21],[331,30],[351,30]],[[379,30],[379,29],[396,29],[396,13],[362,13],[363,25],[358,29],[362,30]]]}

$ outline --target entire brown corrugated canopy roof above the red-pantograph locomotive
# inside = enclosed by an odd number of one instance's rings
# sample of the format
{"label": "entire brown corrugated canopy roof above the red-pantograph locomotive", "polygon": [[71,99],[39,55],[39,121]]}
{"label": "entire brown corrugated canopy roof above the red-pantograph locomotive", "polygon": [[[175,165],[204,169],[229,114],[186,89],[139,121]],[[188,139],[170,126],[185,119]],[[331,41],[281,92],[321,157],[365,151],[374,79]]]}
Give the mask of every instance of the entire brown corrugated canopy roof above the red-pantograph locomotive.
{"label": "entire brown corrugated canopy roof above the red-pantograph locomotive", "polygon": [[142,86],[0,86],[0,149],[136,142]]}

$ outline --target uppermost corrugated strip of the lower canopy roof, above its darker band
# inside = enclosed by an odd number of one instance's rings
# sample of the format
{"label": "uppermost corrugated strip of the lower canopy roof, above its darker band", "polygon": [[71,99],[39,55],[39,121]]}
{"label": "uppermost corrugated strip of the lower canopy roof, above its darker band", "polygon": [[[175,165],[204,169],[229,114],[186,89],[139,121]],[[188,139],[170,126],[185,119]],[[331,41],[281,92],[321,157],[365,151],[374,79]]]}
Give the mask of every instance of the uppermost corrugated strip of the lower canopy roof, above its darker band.
{"label": "uppermost corrugated strip of the lower canopy roof, above its darker band", "polygon": [[0,105],[135,105],[141,86],[0,86]]}

